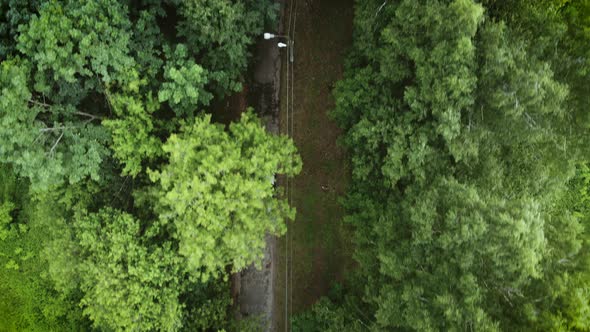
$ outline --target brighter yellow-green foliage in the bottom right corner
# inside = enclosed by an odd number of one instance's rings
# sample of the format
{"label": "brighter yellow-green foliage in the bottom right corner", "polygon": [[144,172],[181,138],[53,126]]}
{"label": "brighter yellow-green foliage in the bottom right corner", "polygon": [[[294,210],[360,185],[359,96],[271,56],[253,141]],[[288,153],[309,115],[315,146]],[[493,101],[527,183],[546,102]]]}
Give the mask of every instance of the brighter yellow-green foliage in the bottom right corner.
{"label": "brighter yellow-green foliage in the bottom right corner", "polygon": [[545,229],[551,251],[542,262],[544,278],[527,289],[535,305],[525,304],[524,312],[512,313],[518,321],[518,315],[536,312],[532,329],[584,331],[590,326],[589,185],[588,166],[581,164],[567,191],[552,204],[550,227]]}

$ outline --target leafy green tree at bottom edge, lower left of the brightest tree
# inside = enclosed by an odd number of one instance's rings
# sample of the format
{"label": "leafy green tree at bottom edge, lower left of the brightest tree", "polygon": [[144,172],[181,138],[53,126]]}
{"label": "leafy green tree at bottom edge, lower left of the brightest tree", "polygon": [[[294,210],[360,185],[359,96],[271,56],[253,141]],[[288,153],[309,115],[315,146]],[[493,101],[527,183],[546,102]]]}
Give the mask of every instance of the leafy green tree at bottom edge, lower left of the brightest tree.
{"label": "leafy green tree at bottom edge, lower left of the brightest tree", "polygon": [[176,331],[181,326],[179,260],[170,243],[150,247],[131,215],[104,209],[76,222],[81,304],[96,327]]}

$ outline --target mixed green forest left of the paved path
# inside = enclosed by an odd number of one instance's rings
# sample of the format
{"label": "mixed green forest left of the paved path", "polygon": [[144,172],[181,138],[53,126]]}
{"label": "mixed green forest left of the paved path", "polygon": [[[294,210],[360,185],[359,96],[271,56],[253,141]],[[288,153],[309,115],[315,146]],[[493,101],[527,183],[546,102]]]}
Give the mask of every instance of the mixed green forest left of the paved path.
{"label": "mixed green forest left of the paved path", "polygon": [[292,219],[242,89],[270,0],[0,1],[0,331],[243,330],[228,275]]}

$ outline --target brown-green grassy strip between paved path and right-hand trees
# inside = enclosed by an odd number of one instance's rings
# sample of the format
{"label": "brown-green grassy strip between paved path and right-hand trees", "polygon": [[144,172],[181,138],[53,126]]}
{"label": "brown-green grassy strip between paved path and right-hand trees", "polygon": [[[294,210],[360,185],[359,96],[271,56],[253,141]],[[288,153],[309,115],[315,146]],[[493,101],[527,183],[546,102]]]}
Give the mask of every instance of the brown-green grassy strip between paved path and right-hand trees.
{"label": "brown-green grassy strip between paved path and right-hand trees", "polygon": [[342,132],[329,116],[335,105],[332,89],[352,46],[353,14],[353,0],[285,5],[283,23],[290,28],[281,33],[294,39],[294,62],[285,65],[289,60],[282,49],[279,123],[280,132],[295,142],[303,168],[284,181],[297,215],[276,243],[274,331],[290,331],[293,317],[344,284],[354,268],[352,231],[342,222],[339,203],[351,178],[349,159],[337,144]]}

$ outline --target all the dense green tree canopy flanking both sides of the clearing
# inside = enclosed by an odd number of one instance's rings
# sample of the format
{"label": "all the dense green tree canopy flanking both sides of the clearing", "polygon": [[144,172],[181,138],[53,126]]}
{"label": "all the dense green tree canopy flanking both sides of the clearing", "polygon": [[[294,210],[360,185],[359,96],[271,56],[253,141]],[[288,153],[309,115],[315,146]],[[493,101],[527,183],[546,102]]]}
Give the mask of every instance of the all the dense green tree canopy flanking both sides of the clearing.
{"label": "all the dense green tree canopy flanking both sides of the clearing", "polygon": [[[213,105],[275,2],[0,14],[0,331],[246,331],[229,276],[302,161]],[[590,0],[356,0],[329,110],[356,268],[292,330],[590,330],[589,79]]]}

